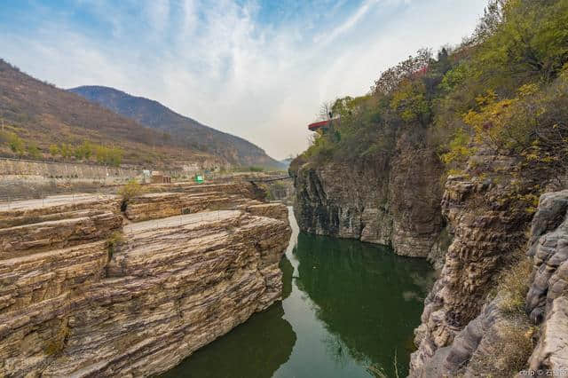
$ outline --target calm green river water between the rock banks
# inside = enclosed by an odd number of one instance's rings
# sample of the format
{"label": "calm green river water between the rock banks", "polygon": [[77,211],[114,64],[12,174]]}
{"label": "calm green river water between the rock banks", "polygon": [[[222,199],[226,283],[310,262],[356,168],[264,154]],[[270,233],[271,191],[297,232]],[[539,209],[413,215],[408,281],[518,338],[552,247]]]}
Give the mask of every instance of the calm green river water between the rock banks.
{"label": "calm green river water between the rock banks", "polygon": [[406,376],[430,265],[356,240],[298,234],[290,222],[284,300],[163,377]]}

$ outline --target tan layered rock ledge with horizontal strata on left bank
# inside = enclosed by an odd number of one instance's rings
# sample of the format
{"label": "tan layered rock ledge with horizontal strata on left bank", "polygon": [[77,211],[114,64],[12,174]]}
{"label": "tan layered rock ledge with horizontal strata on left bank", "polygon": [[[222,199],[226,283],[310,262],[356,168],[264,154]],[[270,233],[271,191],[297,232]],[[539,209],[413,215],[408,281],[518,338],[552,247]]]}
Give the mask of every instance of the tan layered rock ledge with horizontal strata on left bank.
{"label": "tan layered rock ledge with horizontal strata on left bank", "polygon": [[[3,237],[0,252],[0,376],[160,373],[280,299],[283,205],[123,228],[119,213],[87,205],[40,224],[60,208],[22,206],[34,216],[1,230],[20,241]],[[22,242],[24,230],[36,241]]]}

